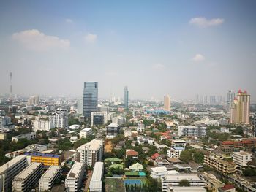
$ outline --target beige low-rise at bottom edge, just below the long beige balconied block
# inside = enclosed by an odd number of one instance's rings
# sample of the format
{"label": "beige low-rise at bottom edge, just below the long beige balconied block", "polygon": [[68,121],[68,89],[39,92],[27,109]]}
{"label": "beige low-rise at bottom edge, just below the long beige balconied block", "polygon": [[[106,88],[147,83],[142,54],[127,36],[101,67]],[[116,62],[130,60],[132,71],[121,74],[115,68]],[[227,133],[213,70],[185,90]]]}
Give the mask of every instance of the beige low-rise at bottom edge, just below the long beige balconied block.
{"label": "beige low-rise at bottom edge, just below the long beige balconied block", "polygon": [[218,180],[214,174],[204,172],[200,174],[199,177],[206,181],[206,187],[209,191],[219,192],[219,188],[225,186],[225,183],[222,183],[220,180]]}

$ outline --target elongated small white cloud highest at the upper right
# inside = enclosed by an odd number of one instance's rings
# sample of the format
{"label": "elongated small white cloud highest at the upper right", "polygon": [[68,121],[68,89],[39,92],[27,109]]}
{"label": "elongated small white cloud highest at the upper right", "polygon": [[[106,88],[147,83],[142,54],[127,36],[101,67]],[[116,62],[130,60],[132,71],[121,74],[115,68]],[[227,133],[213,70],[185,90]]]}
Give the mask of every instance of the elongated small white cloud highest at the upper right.
{"label": "elongated small white cloud highest at the upper right", "polygon": [[211,20],[208,20],[206,18],[192,18],[191,20],[189,20],[189,24],[198,27],[219,26],[222,23],[224,23],[224,19],[222,18],[214,18]]}

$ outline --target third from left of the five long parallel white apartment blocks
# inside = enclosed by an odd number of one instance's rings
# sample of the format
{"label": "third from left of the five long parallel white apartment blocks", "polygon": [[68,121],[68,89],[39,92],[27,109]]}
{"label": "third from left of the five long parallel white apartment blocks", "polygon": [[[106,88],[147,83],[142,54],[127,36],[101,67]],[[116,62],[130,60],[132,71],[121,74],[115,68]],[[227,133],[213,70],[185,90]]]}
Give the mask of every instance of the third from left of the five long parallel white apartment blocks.
{"label": "third from left of the five long parallel white apartment blocks", "polygon": [[50,189],[53,188],[56,179],[61,176],[61,172],[61,166],[50,166],[47,171],[42,174],[42,177],[39,180],[39,191],[50,191]]}

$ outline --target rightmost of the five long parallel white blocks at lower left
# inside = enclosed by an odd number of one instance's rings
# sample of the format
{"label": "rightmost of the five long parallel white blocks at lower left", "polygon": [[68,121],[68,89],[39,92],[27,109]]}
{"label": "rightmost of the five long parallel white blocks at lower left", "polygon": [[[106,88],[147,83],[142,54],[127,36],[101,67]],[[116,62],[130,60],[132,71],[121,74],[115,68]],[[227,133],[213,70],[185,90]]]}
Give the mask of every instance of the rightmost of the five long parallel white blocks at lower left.
{"label": "rightmost of the five long parallel white blocks at lower left", "polygon": [[102,177],[104,174],[104,164],[102,162],[96,162],[94,166],[94,172],[91,176],[90,191],[99,192],[102,191]]}

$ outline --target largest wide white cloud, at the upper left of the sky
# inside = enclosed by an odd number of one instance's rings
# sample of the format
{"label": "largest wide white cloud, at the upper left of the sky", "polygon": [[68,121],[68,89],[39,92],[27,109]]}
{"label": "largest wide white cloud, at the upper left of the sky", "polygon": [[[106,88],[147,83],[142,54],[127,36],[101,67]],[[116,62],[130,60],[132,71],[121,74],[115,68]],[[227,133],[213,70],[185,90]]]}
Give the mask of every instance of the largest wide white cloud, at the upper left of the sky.
{"label": "largest wide white cloud, at the upper left of the sky", "polygon": [[67,39],[59,39],[56,36],[48,36],[37,29],[20,31],[12,34],[12,39],[31,50],[45,51],[53,48],[67,50],[70,42]]}

